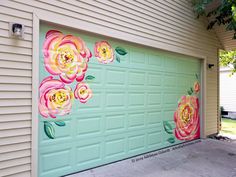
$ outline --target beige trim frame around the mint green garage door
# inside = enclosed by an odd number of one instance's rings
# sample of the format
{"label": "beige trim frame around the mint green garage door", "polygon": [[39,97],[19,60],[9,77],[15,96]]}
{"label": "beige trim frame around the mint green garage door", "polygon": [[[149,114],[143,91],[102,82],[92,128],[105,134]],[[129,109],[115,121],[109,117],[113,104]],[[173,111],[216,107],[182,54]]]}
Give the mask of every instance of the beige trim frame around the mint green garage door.
{"label": "beige trim frame around the mint green garage door", "polygon": [[[60,22],[58,22],[60,19]],[[44,10],[35,9],[33,13],[33,59],[32,59],[32,146],[31,146],[31,176],[38,176],[38,83],[39,83],[39,28],[41,22],[52,23],[55,25],[60,25],[67,28],[74,28],[77,30],[82,30],[86,32],[91,32],[94,34],[104,35],[119,40],[124,40],[127,42],[137,43],[145,45],[147,47],[154,47],[156,49],[165,50],[165,46],[158,45],[155,47],[153,41],[144,40],[141,37],[134,36],[132,34],[127,34],[125,32],[116,32],[103,29],[103,27],[98,27],[97,25],[92,25],[89,22],[78,22],[77,19],[71,17],[66,17],[59,14],[54,14],[50,12],[45,13]],[[96,27],[96,28],[95,28]],[[98,30],[98,28],[101,28]],[[94,30],[96,29],[96,31]],[[99,33],[98,33],[99,31]],[[174,52],[182,55],[188,55],[190,57],[195,57],[201,60],[201,101],[200,105],[200,127],[201,127],[201,138],[205,138],[205,116],[206,116],[206,65],[207,57],[203,55],[196,54],[194,52],[180,51],[178,48],[170,48],[168,52]]]}

